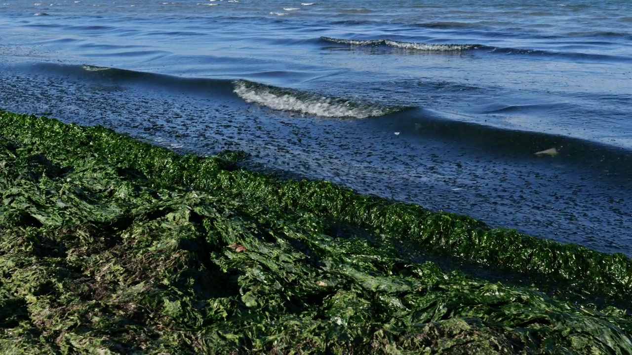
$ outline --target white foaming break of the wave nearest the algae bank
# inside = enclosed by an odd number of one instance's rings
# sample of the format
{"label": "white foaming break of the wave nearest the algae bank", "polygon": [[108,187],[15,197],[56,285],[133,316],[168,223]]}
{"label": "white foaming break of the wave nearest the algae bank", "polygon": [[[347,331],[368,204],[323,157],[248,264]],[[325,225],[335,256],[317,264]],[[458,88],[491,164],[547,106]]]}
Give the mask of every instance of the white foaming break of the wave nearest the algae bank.
{"label": "white foaming break of the wave nearest the algae bank", "polygon": [[322,117],[366,118],[384,116],[405,109],[404,107],[384,107],[377,104],[358,104],[350,100],[272,87],[247,80],[235,81],[234,92],[246,102],[264,105],[270,109]]}

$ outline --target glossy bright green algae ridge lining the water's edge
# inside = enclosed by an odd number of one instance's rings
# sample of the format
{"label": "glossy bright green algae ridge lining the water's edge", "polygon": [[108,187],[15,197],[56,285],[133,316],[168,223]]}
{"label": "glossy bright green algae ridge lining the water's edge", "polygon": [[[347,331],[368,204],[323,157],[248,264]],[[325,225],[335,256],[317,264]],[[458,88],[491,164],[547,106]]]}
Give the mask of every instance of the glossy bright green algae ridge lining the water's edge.
{"label": "glossy bright green algae ridge lining the water's edge", "polygon": [[624,296],[631,294],[632,262],[622,254],[599,253],[509,229],[490,229],[469,217],[357,195],[326,181],[279,181],[236,170],[236,161],[247,157],[243,152],[226,152],[222,159],[182,156],[102,127],[82,128],[9,113],[0,114],[0,122],[3,136],[37,145],[49,156],[68,162],[75,156],[98,156],[109,169],[117,169],[118,178],[140,178],[151,188],[187,186],[213,191],[225,198],[260,203],[279,214],[309,211],[389,234],[433,253],[562,282],[588,299],[592,294],[629,299]]}

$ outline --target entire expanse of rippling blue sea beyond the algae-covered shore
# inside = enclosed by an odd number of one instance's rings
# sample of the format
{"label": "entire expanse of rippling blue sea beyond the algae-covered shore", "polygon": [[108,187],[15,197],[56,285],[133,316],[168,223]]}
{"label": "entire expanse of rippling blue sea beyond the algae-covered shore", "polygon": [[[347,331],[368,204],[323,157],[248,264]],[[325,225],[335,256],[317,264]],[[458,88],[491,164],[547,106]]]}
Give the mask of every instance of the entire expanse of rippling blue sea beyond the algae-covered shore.
{"label": "entire expanse of rippling blue sea beyond the algae-covered shore", "polygon": [[1,109],[628,256],[631,96],[624,1],[0,3]]}

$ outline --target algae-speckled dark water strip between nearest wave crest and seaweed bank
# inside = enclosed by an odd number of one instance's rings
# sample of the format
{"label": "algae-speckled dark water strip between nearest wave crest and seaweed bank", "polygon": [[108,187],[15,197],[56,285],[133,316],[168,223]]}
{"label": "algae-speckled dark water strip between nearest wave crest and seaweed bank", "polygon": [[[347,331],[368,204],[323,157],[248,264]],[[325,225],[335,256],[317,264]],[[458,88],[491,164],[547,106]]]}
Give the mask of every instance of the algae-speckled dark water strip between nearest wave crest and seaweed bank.
{"label": "algae-speckled dark water strip between nearest wave crest and seaweed bank", "polygon": [[[47,112],[39,114],[64,123],[100,124],[178,153],[245,150],[256,171],[283,169],[365,195],[466,212],[489,226],[632,256],[627,218],[632,185],[620,174],[629,158],[610,150],[594,145],[576,150],[581,142],[569,145],[568,140],[557,142],[562,149],[552,136],[534,141],[520,135],[521,148],[507,150],[511,132],[475,130],[468,138],[467,125],[424,112],[358,121],[292,118],[291,112],[247,104],[229,81],[152,79],[151,73],[128,78],[116,69],[74,68],[64,75],[48,69],[3,66],[3,108]],[[208,87],[216,91],[209,93]],[[417,123],[424,128],[416,130]],[[500,145],[485,143],[496,140]],[[550,147],[559,154],[534,154]]]}

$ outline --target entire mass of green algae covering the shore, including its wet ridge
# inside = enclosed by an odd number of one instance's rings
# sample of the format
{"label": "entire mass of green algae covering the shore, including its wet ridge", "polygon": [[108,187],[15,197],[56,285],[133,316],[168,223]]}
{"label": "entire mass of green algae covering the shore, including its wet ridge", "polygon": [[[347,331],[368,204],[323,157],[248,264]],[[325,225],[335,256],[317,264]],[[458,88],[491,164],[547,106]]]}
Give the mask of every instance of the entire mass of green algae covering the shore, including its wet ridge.
{"label": "entire mass of green algae covering the shore, including its wet ridge", "polygon": [[[629,354],[626,311],[396,246],[629,295],[629,260],[322,181],[0,112],[0,352]],[[581,278],[581,280],[576,280]]]}

